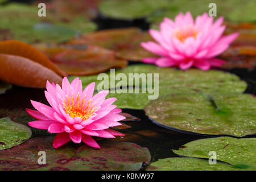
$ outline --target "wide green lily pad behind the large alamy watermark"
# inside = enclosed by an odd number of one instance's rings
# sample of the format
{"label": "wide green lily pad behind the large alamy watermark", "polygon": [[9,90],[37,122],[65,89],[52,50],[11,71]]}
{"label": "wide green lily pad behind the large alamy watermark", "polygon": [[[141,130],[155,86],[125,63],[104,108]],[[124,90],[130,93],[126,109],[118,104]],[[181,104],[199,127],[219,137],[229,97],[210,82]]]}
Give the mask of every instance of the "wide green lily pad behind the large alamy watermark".
{"label": "wide green lily pad behind the large alamy watermark", "polygon": [[[117,101],[115,101],[115,105],[121,108],[131,108],[131,109],[144,109],[151,100],[148,100],[148,96],[152,96],[146,91],[146,93],[118,93],[114,92],[115,84],[119,81],[115,81],[115,76],[118,73],[123,73],[127,77],[127,81],[129,80],[129,73],[138,73],[139,75],[152,73],[152,83],[147,82],[146,85],[142,84],[140,81],[138,84],[126,82],[122,86],[139,88],[140,90],[147,88],[152,85],[154,89],[154,73],[158,73],[159,75],[159,96],[164,96],[169,93],[179,93],[179,92],[207,92],[207,93],[229,93],[230,90],[234,93],[242,93],[245,91],[247,84],[245,81],[241,81],[240,78],[231,73],[222,72],[222,71],[201,71],[199,69],[189,69],[187,71],[181,71],[174,68],[159,68],[154,65],[130,65],[125,69],[117,69],[115,70],[115,74],[107,73],[109,77],[109,87],[112,89],[108,94],[108,97],[116,97]],[[69,80],[73,80],[76,76],[69,77]],[[156,75],[157,77],[157,75]],[[95,91],[97,91],[97,87],[101,88],[101,79],[97,79],[98,75],[92,76],[80,76],[82,80],[82,85],[85,87],[90,82],[96,82]],[[138,78],[138,76],[137,76]],[[111,81],[112,80],[112,81]],[[134,79],[133,79],[134,80]],[[103,80],[105,81],[105,80]],[[112,84],[111,84],[112,82]],[[120,86],[120,85],[119,85]],[[119,90],[119,89],[117,89]],[[99,90],[98,90],[99,91]],[[119,90],[120,91],[120,90]],[[157,90],[155,90],[157,93]]]}

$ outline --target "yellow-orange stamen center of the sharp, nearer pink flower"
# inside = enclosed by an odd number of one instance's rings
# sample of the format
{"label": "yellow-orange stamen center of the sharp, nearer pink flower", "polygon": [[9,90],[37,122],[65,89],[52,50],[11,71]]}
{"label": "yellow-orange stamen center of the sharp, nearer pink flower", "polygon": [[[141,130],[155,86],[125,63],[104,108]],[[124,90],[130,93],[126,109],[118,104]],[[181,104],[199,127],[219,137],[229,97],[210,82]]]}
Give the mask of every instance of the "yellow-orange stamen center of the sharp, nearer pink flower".
{"label": "yellow-orange stamen center of the sharp, nearer pink flower", "polygon": [[72,93],[72,97],[70,98],[66,95],[66,99],[63,98],[63,108],[65,113],[69,114],[72,118],[80,117],[82,121],[95,115],[95,112],[98,110],[98,107],[94,106],[96,102],[92,104],[91,99],[86,101],[85,96],[81,98],[81,94],[77,93],[77,96],[74,97],[74,94]]}

